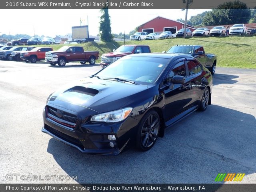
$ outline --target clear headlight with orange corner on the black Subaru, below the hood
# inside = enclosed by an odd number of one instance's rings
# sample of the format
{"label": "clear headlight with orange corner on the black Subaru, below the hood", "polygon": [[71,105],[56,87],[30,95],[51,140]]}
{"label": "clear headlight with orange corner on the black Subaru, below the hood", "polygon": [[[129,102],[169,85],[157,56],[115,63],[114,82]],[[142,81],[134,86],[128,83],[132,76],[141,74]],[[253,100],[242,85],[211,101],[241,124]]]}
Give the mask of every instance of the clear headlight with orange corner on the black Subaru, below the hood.
{"label": "clear headlight with orange corner on the black Subaru, below the hood", "polygon": [[106,112],[98,115],[94,115],[91,118],[91,121],[96,122],[120,122],[124,119],[126,119],[132,112],[131,107],[127,107],[124,109]]}

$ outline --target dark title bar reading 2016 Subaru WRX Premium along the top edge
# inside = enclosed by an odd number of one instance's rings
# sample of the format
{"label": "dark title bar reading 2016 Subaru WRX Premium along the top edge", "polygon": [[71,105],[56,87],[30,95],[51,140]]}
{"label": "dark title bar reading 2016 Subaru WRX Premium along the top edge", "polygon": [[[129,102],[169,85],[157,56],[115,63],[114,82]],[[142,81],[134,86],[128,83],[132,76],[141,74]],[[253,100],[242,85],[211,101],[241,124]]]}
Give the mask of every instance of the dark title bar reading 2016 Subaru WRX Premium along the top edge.
{"label": "dark title bar reading 2016 Subaru WRX Premium along the top edge", "polygon": [[[1,9],[211,9],[232,0],[6,0],[0,1]],[[248,8],[256,7],[256,1],[240,0]]]}

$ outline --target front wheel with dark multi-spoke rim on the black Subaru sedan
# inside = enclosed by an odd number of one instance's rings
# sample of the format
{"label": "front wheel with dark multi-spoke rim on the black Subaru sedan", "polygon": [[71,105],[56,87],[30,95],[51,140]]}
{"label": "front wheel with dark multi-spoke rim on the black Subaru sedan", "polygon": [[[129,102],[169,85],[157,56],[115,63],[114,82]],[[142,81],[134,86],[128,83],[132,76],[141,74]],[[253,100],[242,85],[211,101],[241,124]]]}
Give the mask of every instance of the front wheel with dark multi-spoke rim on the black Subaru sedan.
{"label": "front wheel with dark multi-spoke rim on the black Subaru sedan", "polygon": [[155,110],[148,111],[140,120],[136,135],[136,146],[147,151],[154,146],[160,131],[160,117]]}

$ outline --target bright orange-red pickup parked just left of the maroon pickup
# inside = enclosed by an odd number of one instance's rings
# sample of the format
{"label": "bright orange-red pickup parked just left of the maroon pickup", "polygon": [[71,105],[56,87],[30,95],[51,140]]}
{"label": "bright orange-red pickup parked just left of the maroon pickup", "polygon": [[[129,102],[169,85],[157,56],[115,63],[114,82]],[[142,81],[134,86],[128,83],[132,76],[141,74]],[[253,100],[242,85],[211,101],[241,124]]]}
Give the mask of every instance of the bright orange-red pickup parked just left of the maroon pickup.
{"label": "bright orange-red pickup parked just left of the maroon pickup", "polygon": [[52,51],[53,49],[50,47],[36,47],[31,51],[24,51],[20,53],[20,58],[25,60],[26,62],[35,63],[40,60],[44,60],[45,53],[48,51]]}

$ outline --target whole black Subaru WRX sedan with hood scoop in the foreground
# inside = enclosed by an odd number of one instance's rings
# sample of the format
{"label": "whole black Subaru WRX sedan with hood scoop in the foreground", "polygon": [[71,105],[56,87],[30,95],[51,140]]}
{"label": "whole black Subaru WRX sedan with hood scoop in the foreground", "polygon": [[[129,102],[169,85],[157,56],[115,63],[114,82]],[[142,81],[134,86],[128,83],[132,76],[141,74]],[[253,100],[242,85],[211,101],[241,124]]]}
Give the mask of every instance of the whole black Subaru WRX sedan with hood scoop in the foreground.
{"label": "whole black Subaru WRX sedan with hood scoop in the foreground", "polygon": [[212,75],[188,55],[134,54],[51,94],[42,132],[83,153],[146,151],[164,129],[211,103]]}

